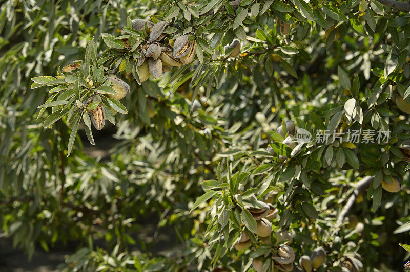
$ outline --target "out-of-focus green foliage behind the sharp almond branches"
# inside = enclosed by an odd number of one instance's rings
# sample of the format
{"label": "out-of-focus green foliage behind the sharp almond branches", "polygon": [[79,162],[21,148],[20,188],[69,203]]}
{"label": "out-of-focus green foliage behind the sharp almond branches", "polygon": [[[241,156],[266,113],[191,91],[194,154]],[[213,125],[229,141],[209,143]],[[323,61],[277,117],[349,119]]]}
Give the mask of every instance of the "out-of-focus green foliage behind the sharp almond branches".
{"label": "out-of-focus green foliage behind the sharp almond branches", "polygon": [[[198,100],[203,110],[195,114],[190,114],[194,88],[189,81],[173,90],[172,84],[166,84],[172,73],[141,86],[132,76],[122,75],[131,86],[131,94],[124,99],[129,114],[117,115],[115,127],[95,134],[95,149],[102,150],[98,153],[102,155],[85,152],[93,149],[83,127],[69,157],[71,129],[63,121],[51,129],[43,128],[47,112],[38,116],[37,106],[49,94],[45,88],[31,90],[31,78],[55,75],[59,66],[83,59],[87,42],[93,37],[98,51],[104,51],[101,33],[120,35],[127,16],[147,18],[163,14],[165,4],[176,4],[2,2],[2,232],[13,238],[14,246],[24,248],[29,259],[36,250],[49,252],[54,247],[72,247],[74,242],[76,253],[60,266],[66,271],[218,271],[215,267],[239,271],[247,266],[249,256],[237,254],[233,244],[221,250],[218,243],[204,237],[208,225],[215,224],[207,214],[216,198],[189,212],[203,194],[201,183],[217,179],[220,162],[222,176],[229,171],[253,172],[249,182],[243,184],[243,191],[262,188],[255,191],[260,193],[258,196],[273,191],[292,194],[291,202],[280,198],[281,193],[277,197],[277,209],[286,222],[278,221],[276,226],[292,230],[292,247],[298,255],[310,255],[313,248],[325,247],[327,268],[320,271],[340,271],[337,262],[342,256],[356,253],[366,271],[402,270],[406,255],[398,243],[408,239],[410,199],[408,175],[404,173],[407,163],[397,147],[408,139],[410,125],[408,114],[399,111],[393,97],[401,90],[397,83],[404,90],[409,85],[409,17],[398,10],[384,10],[377,1],[366,2],[372,8],[368,12],[376,15],[373,26],[371,18],[363,19],[368,15],[359,10],[358,1],[347,2],[352,11],[348,14],[350,21],[344,24],[329,17],[323,26],[319,22],[308,24],[301,21],[300,13],[289,17],[284,12],[286,17],[281,18],[291,22],[288,37],[272,27],[274,15],[281,15],[279,12],[262,20],[266,26],[255,27],[253,22],[245,21],[247,35],[254,37],[242,41],[242,52],[249,55],[210,64],[212,68],[208,69],[217,71],[217,87],[211,82],[202,83]],[[221,45],[217,48],[222,52]],[[392,59],[396,63],[394,72],[389,71],[391,76],[384,79],[383,70]],[[191,65],[190,71],[195,67]],[[283,163],[269,154],[252,153],[268,147],[271,134],[265,132],[275,130],[282,120],[292,120],[298,127],[315,132],[320,124],[312,120],[311,112],[328,125],[332,117],[343,114],[343,105],[352,97],[363,110],[358,111],[357,122],[348,122],[343,116],[338,120],[340,124],[349,123],[345,128],[351,129],[388,128],[394,141],[360,144],[351,161],[346,158],[348,164],[343,160],[342,165],[336,158],[342,147],[306,147],[299,158],[310,158],[305,171],[312,185],[308,189],[299,178],[295,179],[300,164],[296,160]],[[373,100],[371,106],[369,101]],[[81,140],[85,140],[84,146]],[[325,156],[324,148],[328,146],[333,146],[335,156]],[[258,168],[272,162],[269,169]],[[227,163],[232,163],[231,170]],[[383,191],[376,205],[370,199],[374,190],[367,195],[361,192],[348,220],[336,226],[336,218],[357,180],[381,170],[384,178],[399,179],[402,190]],[[269,188],[263,185],[266,180]],[[378,187],[380,184],[374,189]],[[306,215],[298,206],[301,202],[312,203],[317,215]],[[238,230],[235,233],[239,234]]]}

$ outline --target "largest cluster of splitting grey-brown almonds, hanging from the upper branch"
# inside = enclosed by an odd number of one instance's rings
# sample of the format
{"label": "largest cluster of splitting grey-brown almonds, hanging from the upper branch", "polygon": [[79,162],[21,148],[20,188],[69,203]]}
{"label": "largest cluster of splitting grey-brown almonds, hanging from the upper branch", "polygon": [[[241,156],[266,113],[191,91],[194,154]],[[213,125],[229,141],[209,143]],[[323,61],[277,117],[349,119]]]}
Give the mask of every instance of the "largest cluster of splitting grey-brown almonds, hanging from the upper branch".
{"label": "largest cluster of splitting grey-brown almonds, hanging from the upper branch", "polygon": [[[137,62],[139,79],[146,81],[150,76],[159,78],[162,72],[169,72],[171,66],[189,64],[195,57],[195,39],[190,41],[188,34],[179,36],[175,41],[168,39],[163,31],[169,22],[159,21],[155,25],[151,21],[137,19],[132,22],[132,27],[138,31],[144,31],[149,35],[149,41],[140,46],[140,58]],[[148,33],[146,31],[146,26]]]}

